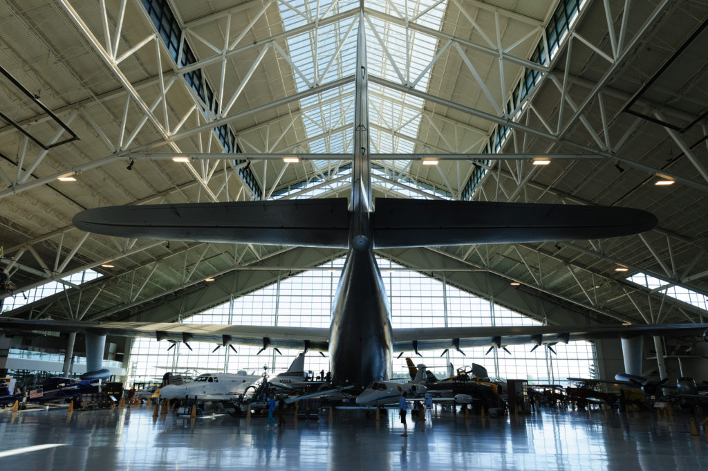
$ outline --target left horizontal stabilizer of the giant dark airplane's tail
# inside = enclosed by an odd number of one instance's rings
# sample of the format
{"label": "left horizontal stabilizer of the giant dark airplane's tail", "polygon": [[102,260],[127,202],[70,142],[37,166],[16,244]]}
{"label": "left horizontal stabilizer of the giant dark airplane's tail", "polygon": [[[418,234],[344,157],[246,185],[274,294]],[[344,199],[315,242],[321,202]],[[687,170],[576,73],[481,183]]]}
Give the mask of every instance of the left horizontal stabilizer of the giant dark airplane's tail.
{"label": "left horizontal stabilizer of the giant dark airplane's tail", "polygon": [[344,249],[346,198],[108,206],[81,211],[74,225],[117,237]]}

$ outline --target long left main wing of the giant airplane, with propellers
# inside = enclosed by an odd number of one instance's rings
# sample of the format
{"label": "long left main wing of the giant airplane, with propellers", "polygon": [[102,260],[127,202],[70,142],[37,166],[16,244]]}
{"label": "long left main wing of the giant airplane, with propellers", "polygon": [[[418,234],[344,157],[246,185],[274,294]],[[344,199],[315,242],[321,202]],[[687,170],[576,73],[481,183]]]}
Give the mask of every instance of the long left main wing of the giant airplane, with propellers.
{"label": "long left main wing of the giant airplane, with propellers", "polygon": [[178,342],[209,342],[274,348],[327,351],[329,329],[315,327],[178,324],[176,322],[79,322],[0,317],[0,330],[91,332]]}

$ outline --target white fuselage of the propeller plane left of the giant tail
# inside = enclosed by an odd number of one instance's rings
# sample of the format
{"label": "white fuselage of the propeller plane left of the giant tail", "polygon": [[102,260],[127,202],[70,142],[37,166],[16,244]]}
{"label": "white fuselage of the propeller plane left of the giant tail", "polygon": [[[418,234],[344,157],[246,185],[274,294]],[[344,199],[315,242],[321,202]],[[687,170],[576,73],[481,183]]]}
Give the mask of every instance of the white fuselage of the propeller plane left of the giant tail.
{"label": "white fuselage of the propeller plane left of the giant tail", "polygon": [[200,375],[192,382],[183,385],[167,385],[160,390],[162,399],[184,399],[196,397],[200,401],[230,401],[244,393],[260,379],[259,375],[248,375],[245,371],[239,373],[212,373]]}

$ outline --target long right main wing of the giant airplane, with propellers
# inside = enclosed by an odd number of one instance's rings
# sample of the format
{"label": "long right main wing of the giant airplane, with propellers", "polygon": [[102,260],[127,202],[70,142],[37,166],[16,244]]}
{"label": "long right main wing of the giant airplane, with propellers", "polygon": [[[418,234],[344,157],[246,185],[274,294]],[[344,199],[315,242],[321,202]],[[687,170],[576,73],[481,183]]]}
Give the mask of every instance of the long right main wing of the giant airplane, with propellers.
{"label": "long right main wing of the giant airplane, with propellers", "polygon": [[621,339],[637,335],[701,336],[708,324],[593,326],[433,327],[393,329],[394,351],[434,350],[518,344],[553,345],[572,340]]}

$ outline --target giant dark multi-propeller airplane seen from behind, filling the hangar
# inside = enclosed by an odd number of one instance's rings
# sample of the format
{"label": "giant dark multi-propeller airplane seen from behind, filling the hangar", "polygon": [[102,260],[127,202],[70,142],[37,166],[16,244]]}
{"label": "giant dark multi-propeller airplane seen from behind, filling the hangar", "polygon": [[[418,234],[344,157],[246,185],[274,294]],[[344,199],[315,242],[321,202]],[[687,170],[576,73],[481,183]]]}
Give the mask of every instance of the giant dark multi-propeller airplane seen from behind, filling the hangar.
{"label": "giant dark multi-propeller airplane seen from behind, filling the hangar", "polygon": [[138,322],[92,324],[2,318],[0,328],[329,351],[333,384],[362,387],[389,378],[392,352],[547,345],[641,334],[692,335],[702,334],[708,328],[708,324],[677,324],[392,329],[374,249],[618,237],[652,229],[657,220],[641,210],[599,206],[391,198],[377,198],[374,202],[364,46],[360,18],[355,71],[355,152],[349,201],[322,198],[114,206],[85,210],[74,217],[74,225],[79,229],[118,237],[348,249],[329,329]]}

